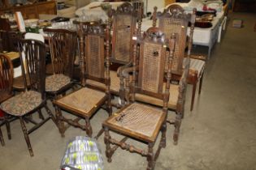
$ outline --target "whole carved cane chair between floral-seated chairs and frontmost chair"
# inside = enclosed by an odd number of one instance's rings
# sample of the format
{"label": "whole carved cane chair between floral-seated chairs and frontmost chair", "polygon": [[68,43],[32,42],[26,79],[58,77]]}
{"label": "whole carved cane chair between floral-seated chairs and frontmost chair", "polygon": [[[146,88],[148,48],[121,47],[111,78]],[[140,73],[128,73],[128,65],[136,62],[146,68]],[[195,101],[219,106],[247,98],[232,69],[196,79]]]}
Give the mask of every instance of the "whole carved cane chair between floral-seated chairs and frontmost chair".
{"label": "whole carved cane chair between floral-seated chairs and frontmost chair", "polygon": [[[59,131],[64,136],[67,125],[74,125],[86,131],[92,137],[93,130],[90,125],[90,118],[94,113],[105,105],[106,110],[111,115],[111,93],[110,93],[110,42],[109,24],[107,27],[101,23],[80,23],[77,24],[77,32],[80,44],[80,68],[81,68],[81,88],[58,100],[54,100],[56,117],[59,122]],[[106,31],[104,31],[106,29]],[[106,51],[105,45],[106,42]],[[97,81],[105,85],[105,91],[100,91],[97,87],[90,85],[89,80]],[[64,117],[62,110],[77,116],[75,120]],[[78,121],[85,120],[85,125]],[[64,125],[67,122],[67,125]],[[98,135],[102,134],[102,130]]]}

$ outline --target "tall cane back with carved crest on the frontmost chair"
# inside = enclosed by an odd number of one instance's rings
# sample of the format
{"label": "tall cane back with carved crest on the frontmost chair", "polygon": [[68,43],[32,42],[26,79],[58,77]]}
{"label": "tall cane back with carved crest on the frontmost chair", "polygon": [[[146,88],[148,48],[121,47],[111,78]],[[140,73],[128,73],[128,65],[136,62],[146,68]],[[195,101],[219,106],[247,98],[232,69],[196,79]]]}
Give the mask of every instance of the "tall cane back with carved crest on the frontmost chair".
{"label": "tall cane back with carved crest on the frontmost chair", "polygon": [[[163,100],[165,95],[163,90],[165,68],[163,66],[167,58],[167,63],[171,63],[171,58],[167,54],[173,54],[170,51],[174,49],[174,40],[165,39],[163,32],[158,28],[149,28],[144,37],[137,40],[137,44],[140,46],[140,57],[138,83],[134,91]],[[134,46],[134,48],[133,53],[136,55],[137,47]],[[135,58],[134,61],[136,61]],[[136,66],[136,62],[133,65]],[[136,79],[134,72],[132,76],[132,79]]]}

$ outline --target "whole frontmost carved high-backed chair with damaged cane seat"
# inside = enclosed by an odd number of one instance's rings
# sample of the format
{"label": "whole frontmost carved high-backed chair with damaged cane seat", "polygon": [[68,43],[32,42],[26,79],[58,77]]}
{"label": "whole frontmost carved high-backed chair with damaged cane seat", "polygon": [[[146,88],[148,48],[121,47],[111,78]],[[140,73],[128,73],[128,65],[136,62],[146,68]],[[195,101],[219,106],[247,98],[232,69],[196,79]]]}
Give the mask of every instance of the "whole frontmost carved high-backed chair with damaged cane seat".
{"label": "whole frontmost carved high-backed chair with damaged cane seat", "polygon": [[[166,146],[167,103],[170,95],[171,64],[169,64],[167,80],[164,83],[163,63],[166,60],[167,45],[163,33],[159,32],[158,28],[149,28],[143,38],[137,39],[137,44],[133,45],[133,61],[136,61],[137,58],[137,45],[140,45],[140,51],[138,52],[140,53],[139,65],[137,66],[137,62],[132,63],[131,87],[129,87],[130,83],[126,83],[126,96],[131,95],[131,100],[127,97],[127,104],[103,122],[104,140],[108,162],[111,162],[111,157],[115,150],[121,147],[124,150],[147,157],[147,169],[150,170],[154,169],[154,164],[161,148]],[[169,57],[172,57],[174,40],[171,40],[170,45],[171,53]],[[169,63],[171,63],[171,58]],[[154,74],[152,74],[153,72]],[[138,83],[135,83],[137,73]],[[129,81],[129,76],[127,79]],[[158,98],[163,102],[163,108],[136,102],[134,96],[139,93]],[[111,137],[110,131],[122,134],[125,138],[118,141]],[[154,153],[153,147],[160,131],[162,136],[158,150]],[[148,151],[129,145],[125,142],[128,138],[146,143]],[[111,144],[115,145],[115,147],[111,147]]]}

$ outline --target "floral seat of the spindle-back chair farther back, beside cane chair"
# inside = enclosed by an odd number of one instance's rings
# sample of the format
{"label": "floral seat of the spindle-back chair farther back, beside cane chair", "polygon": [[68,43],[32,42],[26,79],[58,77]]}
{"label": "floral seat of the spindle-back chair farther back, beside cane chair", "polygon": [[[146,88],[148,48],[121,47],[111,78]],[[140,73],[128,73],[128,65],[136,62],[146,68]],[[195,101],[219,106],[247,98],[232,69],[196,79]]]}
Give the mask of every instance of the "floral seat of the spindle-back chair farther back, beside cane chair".
{"label": "floral seat of the spindle-back chair farther back, beside cane chair", "polygon": [[70,78],[64,74],[53,74],[46,77],[46,91],[59,91],[62,87],[65,87],[68,83],[71,83]]}

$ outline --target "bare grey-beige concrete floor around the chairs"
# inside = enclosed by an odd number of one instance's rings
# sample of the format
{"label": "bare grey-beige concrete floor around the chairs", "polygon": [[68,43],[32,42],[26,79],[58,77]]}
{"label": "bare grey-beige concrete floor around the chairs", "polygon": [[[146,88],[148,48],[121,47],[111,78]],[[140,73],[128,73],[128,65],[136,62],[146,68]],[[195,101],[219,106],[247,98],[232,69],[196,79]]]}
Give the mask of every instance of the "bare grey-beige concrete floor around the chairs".
{"label": "bare grey-beige concrete floor around the chairs", "polygon": [[[228,18],[223,40],[215,45],[207,63],[202,94],[196,96],[193,112],[189,112],[189,86],[179,144],[172,144],[173,127],[168,125],[167,147],[160,153],[156,170],[256,169],[256,15],[232,13]],[[244,20],[244,28],[231,27],[236,18]],[[198,46],[194,49],[201,50]],[[103,110],[93,117],[94,134],[106,117]],[[70,128],[61,138],[54,123],[48,121],[30,135],[34,151],[30,157],[19,121],[11,123],[11,140],[5,127],[2,131],[6,146],[0,146],[1,170],[57,170],[68,140],[85,135]],[[113,155],[112,163],[107,163],[103,136],[98,142],[106,170],[146,168],[145,157],[121,149]]]}

